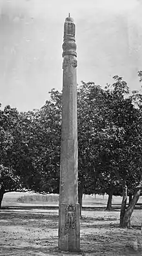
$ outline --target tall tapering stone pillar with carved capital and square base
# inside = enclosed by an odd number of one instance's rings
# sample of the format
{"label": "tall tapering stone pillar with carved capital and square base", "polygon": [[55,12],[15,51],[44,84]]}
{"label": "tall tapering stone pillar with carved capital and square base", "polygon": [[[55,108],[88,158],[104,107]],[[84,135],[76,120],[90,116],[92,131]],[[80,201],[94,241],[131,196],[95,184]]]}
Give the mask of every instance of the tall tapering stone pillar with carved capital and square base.
{"label": "tall tapering stone pillar with carved capital and square base", "polygon": [[80,250],[77,184],[77,53],[74,20],[66,18],[63,43],[63,109],[59,192],[59,249]]}

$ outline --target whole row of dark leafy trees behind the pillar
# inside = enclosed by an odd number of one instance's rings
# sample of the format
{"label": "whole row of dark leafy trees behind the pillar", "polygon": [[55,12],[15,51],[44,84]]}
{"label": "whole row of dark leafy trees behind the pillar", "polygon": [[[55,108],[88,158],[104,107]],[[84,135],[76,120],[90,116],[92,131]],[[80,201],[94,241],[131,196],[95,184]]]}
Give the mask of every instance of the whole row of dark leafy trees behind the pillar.
{"label": "whole row of dark leafy trees behind the pillar", "polygon": [[[0,110],[0,205],[10,191],[59,193],[61,98],[52,89],[39,110]],[[121,227],[130,225],[142,188],[141,110],[141,94],[130,95],[122,77],[77,88],[79,203],[83,193],[107,193],[111,209],[112,195],[123,196]]]}

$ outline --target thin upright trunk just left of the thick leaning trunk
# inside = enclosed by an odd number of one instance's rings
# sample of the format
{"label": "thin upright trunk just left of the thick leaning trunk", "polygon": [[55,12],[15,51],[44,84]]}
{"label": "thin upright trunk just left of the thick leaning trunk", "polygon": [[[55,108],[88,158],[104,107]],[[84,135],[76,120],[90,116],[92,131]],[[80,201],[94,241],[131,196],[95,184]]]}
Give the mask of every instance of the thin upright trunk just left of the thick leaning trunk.
{"label": "thin upright trunk just left of the thick leaning trunk", "polygon": [[127,185],[126,182],[123,183],[123,199],[121,203],[121,210],[120,210],[120,227],[123,227],[123,218],[125,216],[127,206]]}

